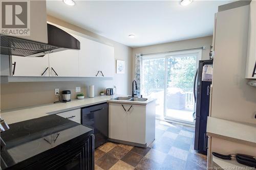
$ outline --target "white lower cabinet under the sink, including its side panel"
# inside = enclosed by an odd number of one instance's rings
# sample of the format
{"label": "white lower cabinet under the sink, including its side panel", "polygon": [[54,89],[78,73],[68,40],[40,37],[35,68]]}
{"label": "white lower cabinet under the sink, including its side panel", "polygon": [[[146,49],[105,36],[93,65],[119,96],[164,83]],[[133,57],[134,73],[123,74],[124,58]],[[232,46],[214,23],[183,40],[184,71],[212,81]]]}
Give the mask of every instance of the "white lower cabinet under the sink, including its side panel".
{"label": "white lower cabinet under the sink, including its side panel", "polygon": [[109,137],[148,147],[155,139],[155,105],[109,103]]}

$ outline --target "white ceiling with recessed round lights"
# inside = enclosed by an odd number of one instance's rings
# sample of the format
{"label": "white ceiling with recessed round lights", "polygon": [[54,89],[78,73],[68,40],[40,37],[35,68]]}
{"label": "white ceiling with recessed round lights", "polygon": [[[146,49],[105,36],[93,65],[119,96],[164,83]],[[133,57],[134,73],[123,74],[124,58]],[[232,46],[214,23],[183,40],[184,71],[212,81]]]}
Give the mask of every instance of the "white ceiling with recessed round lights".
{"label": "white ceiling with recessed round lights", "polygon": [[[212,35],[218,6],[231,1],[47,1],[47,13],[131,47]],[[135,34],[131,39],[129,34]]]}

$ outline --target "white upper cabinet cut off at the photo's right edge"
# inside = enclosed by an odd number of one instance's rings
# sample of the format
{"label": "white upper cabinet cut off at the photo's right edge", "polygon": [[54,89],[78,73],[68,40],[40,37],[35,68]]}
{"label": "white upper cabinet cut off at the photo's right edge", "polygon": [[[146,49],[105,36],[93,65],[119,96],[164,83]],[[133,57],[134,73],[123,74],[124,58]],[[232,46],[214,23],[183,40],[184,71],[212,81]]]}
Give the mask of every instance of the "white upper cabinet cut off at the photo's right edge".
{"label": "white upper cabinet cut off at the photo's right edge", "polygon": [[256,1],[250,3],[245,78],[256,79]]}

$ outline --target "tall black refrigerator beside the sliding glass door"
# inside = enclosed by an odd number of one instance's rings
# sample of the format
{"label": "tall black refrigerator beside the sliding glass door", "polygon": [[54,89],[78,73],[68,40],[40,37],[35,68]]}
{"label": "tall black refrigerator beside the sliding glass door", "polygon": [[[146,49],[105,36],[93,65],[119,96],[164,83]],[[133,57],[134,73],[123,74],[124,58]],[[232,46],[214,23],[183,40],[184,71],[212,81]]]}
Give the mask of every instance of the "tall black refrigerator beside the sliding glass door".
{"label": "tall black refrigerator beside the sliding glass door", "polygon": [[206,71],[206,69],[209,67],[212,68],[212,64],[212,60],[200,60],[194,82],[194,96],[196,102],[194,116],[196,120],[194,150],[205,155],[207,154],[206,125],[207,116],[209,115],[210,85],[212,80],[212,69],[210,71]]}

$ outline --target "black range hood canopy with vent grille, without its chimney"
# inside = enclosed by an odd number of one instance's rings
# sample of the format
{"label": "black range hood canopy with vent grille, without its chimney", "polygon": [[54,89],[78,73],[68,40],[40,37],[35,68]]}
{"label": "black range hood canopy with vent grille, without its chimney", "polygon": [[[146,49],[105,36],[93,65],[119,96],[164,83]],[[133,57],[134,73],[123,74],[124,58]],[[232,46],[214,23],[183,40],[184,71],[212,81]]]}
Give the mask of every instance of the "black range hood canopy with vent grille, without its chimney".
{"label": "black range hood canopy with vent grille, without its chimney", "polygon": [[80,50],[80,42],[67,32],[47,23],[48,43],[1,35],[1,54],[22,57],[44,57],[63,50]]}

